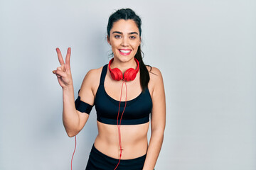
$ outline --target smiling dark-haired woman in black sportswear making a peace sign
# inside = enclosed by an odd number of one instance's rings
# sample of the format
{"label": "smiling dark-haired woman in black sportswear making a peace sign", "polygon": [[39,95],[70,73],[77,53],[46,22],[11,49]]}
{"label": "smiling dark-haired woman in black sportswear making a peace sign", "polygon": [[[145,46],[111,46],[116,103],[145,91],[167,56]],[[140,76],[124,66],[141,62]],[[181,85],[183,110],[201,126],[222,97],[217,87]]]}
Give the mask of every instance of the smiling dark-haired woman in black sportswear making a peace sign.
{"label": "smiling dark-haired woman in black sportswear making a peace sign", "polygon": [[92,106],[97,111],[98,135],[86,169],[153,170],[156,164],[166,122],[164,83],[159,69],[142,61],[141,24],[139,16],[129,8],[110,16],[107,42],[113,59],[87,72],[76,101],[70,48],[65,62],[56,49],[61,66],[53,73],[63,88],[63,124],[68,136],[82,130]]}

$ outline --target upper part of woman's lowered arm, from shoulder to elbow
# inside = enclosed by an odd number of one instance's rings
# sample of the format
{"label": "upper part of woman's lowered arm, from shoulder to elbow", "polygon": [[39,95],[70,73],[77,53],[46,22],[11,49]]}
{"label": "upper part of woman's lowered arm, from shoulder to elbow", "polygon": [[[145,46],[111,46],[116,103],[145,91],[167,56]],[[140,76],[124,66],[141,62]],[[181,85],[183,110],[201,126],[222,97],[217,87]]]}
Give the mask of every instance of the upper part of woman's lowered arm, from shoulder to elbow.
{"label": "upper part of woman's lowered arm, from shoulder to elbow", "polygon": [[152,67],[150,75],[150,84],[153,88],[151,92],[152,111],[151,111],[151,129],[164,132],[166,124],[166,98],[164,93],[164,81],[159,69]]}

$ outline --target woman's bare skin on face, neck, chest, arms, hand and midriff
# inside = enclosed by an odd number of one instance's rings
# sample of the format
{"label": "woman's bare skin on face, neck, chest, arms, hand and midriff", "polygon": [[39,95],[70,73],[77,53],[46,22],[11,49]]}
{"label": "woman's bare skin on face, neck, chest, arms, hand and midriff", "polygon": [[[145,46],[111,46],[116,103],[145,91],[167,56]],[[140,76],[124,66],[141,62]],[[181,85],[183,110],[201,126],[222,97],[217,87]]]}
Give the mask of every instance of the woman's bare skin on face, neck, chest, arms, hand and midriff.
{"label": "woman's bare skin on face, neck, chest, arms, hand and midriff", "polygon": [[[114,54],[114,61],[111,64],[111,68],[118,67],[123,73],[129,68],[137,68],[134,55],[141,43],[141,38],[139,29],[134,21],[119,20],[115,22],[110,30],[110,36],[107,36],[107,42],[110,43]],[[120,49],[129,49],[132,52],[129,55],[122,55],[119,52]],[[53,70],[53,73],[57,75],[58,82],[63,88],[63,124],[68,136],[73,137],[82,130],[89,115],[75,110],[73,81],[70,72],[70,48],[68,48],[65,63],[60,50],[57,48],[56,51],[61,66]],[[150,70],[150,68],[148,69]],[[81,97],[81,101],[85,101],[90,105],[94,104],[97,88],[100,84],[101,72],[102,67],[92,69],[86,74],[80,88],[79,96]],[[136,98],[142,92],[139,75],[138,73],[134,81],[126,82],[129,91],[127,101]],[[161,72],[159,69],[152,67],[149,76],[148,88],[153,102],[149,145],[147,140],[149,123],[121,126],[122,159],[134,159],[146,154],[144,170],[154,169],[164,139],[166,122],[166,102]],[[107,70],[104,86],[107,94],[116,101],[119,101],[122,81],[114,81],[110,76],[109,70]],[[121,101],[125,101],[125,93],[126,89],[124,86]],[[95,139],[95,147],[103,154],[119,159],[120,149],[117,125],[107,125],[97,121],[97,128],[98,135]]]}

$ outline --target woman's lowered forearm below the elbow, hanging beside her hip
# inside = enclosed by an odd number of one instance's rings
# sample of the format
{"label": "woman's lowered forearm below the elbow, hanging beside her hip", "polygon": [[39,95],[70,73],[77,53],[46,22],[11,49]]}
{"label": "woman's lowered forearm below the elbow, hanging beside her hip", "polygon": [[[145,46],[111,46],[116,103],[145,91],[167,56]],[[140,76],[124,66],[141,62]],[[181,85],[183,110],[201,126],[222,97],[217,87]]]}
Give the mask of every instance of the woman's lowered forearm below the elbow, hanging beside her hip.
{"label": "woman's lowered forearm below the elbow, hanging beside her hip", "polygon": [[164,140],[164,130],[154,130],[151,132],[149,147],[146,153],[143,170],[153,170],[156,160],[159,157],[161,145]]}

